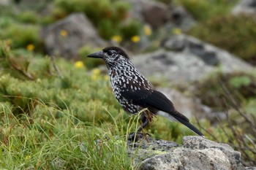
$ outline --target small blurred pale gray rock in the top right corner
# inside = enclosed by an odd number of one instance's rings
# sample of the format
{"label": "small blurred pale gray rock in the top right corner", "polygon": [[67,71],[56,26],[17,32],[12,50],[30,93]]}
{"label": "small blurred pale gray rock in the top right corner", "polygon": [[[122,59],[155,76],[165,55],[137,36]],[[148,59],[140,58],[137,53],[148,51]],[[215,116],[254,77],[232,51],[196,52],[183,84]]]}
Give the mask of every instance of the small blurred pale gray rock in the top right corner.
{"label": "small blurred pale gray rock in the top right corner", "polygon": [[241,0],[232,10],[233,15],[247,14],[256,18],[256,0]]}

